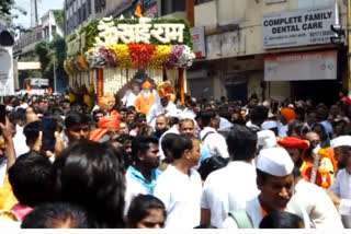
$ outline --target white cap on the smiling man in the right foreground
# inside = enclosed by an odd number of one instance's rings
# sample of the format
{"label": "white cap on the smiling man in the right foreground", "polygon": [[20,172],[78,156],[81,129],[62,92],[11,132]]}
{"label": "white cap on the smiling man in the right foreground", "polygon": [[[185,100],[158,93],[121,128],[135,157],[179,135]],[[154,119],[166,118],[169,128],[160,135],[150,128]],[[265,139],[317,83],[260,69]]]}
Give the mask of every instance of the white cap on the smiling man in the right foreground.
{"label": "white cap on the smiling man in the right foreground", "polygon": [[260,151],[257,168],[267,174],[283,177],[293,173],[294,162],[285,149],[269,148]]}

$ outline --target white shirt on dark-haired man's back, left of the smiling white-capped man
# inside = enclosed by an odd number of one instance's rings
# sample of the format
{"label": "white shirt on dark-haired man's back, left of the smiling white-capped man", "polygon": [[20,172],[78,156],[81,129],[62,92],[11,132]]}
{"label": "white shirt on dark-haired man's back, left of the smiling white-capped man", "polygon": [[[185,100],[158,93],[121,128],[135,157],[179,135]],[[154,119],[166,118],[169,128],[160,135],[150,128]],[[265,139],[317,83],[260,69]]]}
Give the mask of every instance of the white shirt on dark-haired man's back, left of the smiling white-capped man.
{"label": "white shirt on dark-haired man's back, left of the smiling white-capped man", "polygon": [[228,213],[245,210],[246,203],[259,194],[253,165],[240,161],[208,175],[204,184],[201,207],[211,210],[211,224],[222,227]]}

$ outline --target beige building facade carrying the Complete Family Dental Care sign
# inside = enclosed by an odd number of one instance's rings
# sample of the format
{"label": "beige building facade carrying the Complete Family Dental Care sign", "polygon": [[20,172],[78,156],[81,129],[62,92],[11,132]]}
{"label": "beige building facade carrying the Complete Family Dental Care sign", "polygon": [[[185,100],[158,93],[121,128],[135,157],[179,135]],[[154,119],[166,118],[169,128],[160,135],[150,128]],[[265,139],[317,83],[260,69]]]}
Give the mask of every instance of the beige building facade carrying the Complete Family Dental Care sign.
{"label": "beige building facade carrying the Complete Family Dental Care sign", "polygon": [[188,72],[190,93],[335,102],[347,63],[344,47],[330,43],[330,24],[346,25],[346,11],[342,0],[197,1],[201,55]]}

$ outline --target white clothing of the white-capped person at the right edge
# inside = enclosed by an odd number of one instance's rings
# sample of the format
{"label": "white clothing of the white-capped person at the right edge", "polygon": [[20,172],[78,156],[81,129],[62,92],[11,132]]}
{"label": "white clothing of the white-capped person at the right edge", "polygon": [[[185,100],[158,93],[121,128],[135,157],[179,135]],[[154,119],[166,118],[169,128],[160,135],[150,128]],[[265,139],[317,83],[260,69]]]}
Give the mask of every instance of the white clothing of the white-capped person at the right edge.
{"label": "white clothing of the white-capped person at the right edge", "polygon": [[342,223],[344,227],[351,229],[351,175],[346,169],[340,169],[329,190],[341,198]]}

